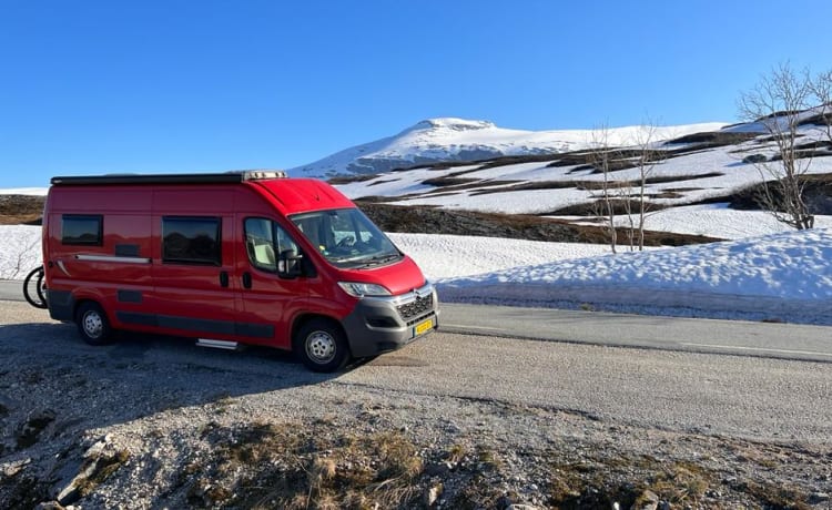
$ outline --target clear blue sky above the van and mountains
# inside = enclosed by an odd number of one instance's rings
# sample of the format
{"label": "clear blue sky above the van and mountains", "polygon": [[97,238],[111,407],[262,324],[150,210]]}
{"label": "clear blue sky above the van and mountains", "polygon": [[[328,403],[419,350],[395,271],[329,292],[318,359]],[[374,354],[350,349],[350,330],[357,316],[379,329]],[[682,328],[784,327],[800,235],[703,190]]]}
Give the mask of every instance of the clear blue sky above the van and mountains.
{"label": "clear blue sky above the van and mountains", "polygon": [[435,116],[735,121],[832,1],[0,0],[0,188],[293,167]]}

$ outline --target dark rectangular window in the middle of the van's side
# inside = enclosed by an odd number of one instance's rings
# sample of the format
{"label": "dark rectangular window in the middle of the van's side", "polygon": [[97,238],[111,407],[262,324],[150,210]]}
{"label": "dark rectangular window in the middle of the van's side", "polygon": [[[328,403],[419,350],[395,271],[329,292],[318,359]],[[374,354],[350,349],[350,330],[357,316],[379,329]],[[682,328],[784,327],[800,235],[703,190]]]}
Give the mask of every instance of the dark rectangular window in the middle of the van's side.
{"label": "dark rectangular window in the middle of the van's side", "polygon": [[221,266],[221,225],[219,217],[164,216],[162,262]]}

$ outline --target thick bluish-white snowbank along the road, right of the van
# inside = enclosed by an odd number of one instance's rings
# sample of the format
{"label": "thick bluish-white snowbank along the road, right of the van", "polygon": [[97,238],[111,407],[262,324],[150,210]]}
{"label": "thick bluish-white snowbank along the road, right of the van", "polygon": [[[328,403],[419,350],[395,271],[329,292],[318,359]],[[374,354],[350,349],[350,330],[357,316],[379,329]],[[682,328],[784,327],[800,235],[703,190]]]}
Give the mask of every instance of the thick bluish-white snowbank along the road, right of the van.
{"label": "thick bluish-white snowbank along the road, right of the van", "polygon": [[448,302],[832,325],[832,230],[439,279]]}

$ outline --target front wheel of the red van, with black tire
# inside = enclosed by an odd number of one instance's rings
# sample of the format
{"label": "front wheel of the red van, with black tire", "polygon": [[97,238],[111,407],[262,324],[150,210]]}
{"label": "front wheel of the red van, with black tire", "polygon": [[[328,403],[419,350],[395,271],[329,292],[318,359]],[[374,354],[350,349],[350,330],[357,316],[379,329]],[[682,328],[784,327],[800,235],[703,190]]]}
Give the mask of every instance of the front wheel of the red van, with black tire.
{"label": "front wheel of the red van, with black tire", "polygon": [[337,323],[316,318],[295,334],[295,355],[312,371],[332,373],[346,365],[349,347]]}

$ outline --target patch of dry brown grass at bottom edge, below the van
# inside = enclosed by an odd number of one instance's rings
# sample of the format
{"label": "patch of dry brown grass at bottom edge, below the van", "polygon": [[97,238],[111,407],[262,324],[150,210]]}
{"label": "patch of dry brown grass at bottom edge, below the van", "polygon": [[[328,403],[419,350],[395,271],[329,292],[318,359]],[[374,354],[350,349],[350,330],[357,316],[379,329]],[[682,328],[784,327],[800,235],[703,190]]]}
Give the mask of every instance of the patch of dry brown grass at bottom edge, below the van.
{"label": "patch of dry brown grass at bottom edge, below the van", "polygon": [[[314,429],[314,430],[313,430]],[[258,424],[233,432],[233,442],[192,468],[183,484],[195,507],[286,509],[394,508],[417,494],[423,459],[397,432],[335,432],[325,421]],[[327,430],[326,434],[321,434]],[[215,429],[209,437],[227,437]],[[205,475],[209,475],[207,477]],[[219,481],[219,483],[217,483]],[[223,488],[223,489],[219,489]]]}

